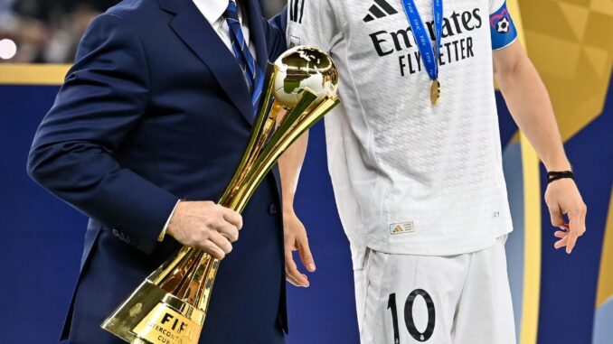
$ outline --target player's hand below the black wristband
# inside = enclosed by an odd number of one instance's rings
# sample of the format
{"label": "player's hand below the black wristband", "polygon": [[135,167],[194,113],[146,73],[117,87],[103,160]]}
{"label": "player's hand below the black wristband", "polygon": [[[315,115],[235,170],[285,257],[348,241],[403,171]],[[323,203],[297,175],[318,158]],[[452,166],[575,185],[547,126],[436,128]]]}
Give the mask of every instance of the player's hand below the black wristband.
{"label": "player's hand below the black wristband", "polygon": [[[552,226],[560,228],[553,234],[560,239],[553,246],[556,249],[566,246],[566,253],[570,254],[577,239],[585,233],[588,211],[577,185],[571,179],[553,181],[545,191],[545,202],[552,216]],[[563,215],[569,218],[569,223],[564,221]]]}

